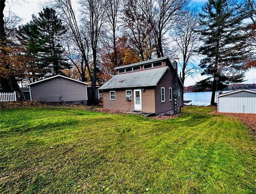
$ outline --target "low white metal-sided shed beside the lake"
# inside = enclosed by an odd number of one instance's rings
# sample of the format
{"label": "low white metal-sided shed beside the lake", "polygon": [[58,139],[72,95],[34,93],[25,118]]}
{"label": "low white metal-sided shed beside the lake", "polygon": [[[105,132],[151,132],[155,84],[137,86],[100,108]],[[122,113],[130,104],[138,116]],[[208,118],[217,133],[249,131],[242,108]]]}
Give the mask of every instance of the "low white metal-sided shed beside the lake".
{"label": "low white metal-sided shed beside the lake", "polygon": [[217,96],[218,112],[256,113],[256,91],[234,90]]}

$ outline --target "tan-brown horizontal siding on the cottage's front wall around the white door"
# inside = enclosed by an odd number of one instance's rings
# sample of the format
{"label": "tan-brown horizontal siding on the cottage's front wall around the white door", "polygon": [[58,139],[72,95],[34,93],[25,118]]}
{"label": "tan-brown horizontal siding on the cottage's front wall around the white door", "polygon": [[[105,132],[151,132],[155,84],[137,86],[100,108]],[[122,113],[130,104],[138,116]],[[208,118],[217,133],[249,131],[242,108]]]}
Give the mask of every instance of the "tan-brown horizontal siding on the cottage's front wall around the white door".
{"label": "tan-brown horizontal siding on the cottage's front wall around the white door", "polygon": [[[126,90],[132,90],[132,100],[126,100]],[[116,92],[116,100],[110,100],[110,91]],[[145,88],[145,92],[142,92],[142,111],[143,112],[155,112],[154,103],[154,88]],[[114,110],[134,110],[134,88],[126,88],[123,90],[112,89],[103,91],[103,108],[109,108]]]}

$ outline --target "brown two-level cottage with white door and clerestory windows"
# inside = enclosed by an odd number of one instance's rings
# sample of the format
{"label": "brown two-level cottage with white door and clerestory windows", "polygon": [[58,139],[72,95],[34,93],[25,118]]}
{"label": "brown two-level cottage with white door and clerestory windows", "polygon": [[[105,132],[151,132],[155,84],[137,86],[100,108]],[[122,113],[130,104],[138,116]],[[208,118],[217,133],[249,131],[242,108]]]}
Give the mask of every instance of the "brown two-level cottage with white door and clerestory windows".
{"label": "brown two-level cottage with white door and clerestory windows", "polygon": [[184,86],[178,78],[177,62],[172,63],[168,57],[115,70],[117,74],[99,88],[103,108],[159,115],[177,114],[183,106]]}

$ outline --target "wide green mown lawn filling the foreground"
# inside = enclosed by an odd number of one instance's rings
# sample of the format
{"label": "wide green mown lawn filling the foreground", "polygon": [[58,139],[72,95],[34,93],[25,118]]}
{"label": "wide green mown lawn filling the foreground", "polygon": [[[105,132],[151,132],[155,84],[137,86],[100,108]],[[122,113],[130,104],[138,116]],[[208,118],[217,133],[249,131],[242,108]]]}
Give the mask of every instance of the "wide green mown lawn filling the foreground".
{"label": "wide green mown lawn filling the foreground", "polygon": [[256,193],[256,142],[238,119],[71,108],[0,109],[2,193]]}

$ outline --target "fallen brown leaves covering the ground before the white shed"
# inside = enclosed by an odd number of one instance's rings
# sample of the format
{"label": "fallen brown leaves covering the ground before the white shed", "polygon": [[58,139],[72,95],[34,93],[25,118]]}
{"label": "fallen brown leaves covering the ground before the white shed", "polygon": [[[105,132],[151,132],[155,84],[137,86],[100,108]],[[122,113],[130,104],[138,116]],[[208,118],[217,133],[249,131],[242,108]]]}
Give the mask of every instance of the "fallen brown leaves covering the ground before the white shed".
{"label": "fallen brown leaves covering the ground before the white shed", "polygon": [[254,139],[256,140],[256,114],[252,113],[227,113],[227,112],[217,112],[216,110],[212,112],[213,114],[222,114],[226,116],[239,118],[248,128]]}

